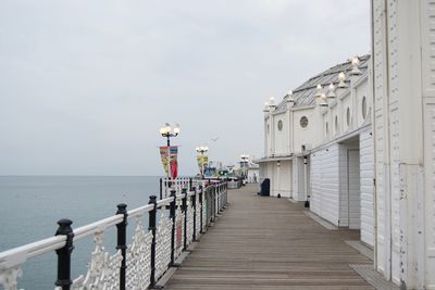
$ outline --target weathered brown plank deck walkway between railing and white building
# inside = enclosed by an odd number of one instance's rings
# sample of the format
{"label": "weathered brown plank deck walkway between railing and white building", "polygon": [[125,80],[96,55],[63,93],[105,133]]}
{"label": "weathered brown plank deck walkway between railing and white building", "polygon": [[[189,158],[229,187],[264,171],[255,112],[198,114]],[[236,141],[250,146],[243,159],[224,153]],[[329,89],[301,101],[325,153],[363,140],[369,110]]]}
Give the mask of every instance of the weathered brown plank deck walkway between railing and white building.
{"label": "weathered brown plank deck walkway between railing and white building", "polygon": [[228,192],[229,205],[165,289],[373,289],[349,264],[371,264],[347,245],[355,230],[327,230],[301,204]]}

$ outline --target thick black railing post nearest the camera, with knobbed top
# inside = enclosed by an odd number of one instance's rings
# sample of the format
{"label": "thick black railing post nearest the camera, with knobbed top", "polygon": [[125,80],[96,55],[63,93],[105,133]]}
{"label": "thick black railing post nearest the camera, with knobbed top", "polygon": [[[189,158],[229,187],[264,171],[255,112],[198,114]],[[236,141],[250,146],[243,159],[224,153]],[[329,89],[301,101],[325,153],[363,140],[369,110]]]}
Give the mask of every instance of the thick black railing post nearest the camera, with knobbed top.
{"label": "thick black railing post nearest the camera, with knobbed top", "polygon": [[73,238],[74,232],[71,228],[73,222],[71,219],[60,219],[58,222],[59,228],[55,231],[55,236],[66,236],[65,245],[59,250],[55,250],[58,254],[58,279],[55,286],[60,286],[62,290],[70,290],[73,280],[71,279],[71,253],[74,250]]}

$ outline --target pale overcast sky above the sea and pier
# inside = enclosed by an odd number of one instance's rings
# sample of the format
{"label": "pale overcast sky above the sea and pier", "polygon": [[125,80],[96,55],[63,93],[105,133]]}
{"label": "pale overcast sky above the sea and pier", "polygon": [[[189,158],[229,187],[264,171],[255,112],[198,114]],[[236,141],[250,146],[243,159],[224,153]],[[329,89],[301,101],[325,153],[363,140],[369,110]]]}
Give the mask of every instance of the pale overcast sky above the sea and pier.
{"label": "pale overcast sky above the sea and pier", "polygon": [[181,174],[260,157],[269,96],[370,52],[369,2],[1,0],[0,175],[162,175],[165,122]]}

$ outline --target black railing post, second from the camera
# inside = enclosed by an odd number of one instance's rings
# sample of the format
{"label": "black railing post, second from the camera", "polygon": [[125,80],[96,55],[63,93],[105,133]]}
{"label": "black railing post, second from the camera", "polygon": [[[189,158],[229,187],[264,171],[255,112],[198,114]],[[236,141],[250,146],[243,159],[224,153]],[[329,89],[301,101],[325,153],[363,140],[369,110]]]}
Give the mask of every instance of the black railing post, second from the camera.
{"label": "black railing post, second from the camera", "polygon": [[127,205],[125,203],[120,203],[116,205],[117,211],[116,214],[122,214],[124,215],[123,220],[116,225],[116,231],[117,231],[117,245],[116,250],[121,250],[121,254],[123,256],[123,260],[121,262],[121,268],[120,268],[120,290],[125,290],[125,272],[127,269]]}

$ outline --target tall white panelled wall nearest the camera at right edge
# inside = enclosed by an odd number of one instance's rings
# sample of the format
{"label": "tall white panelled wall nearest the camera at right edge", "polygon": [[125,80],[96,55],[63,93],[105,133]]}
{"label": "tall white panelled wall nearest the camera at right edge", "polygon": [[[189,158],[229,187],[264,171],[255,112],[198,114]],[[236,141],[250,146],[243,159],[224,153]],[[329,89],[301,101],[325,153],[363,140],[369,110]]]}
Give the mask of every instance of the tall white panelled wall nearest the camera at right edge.
{"label": "tall white panelled wall nearest the camera at right edge", "polygon": [[435,289],[435,1],[372,0],[375,268]]}

